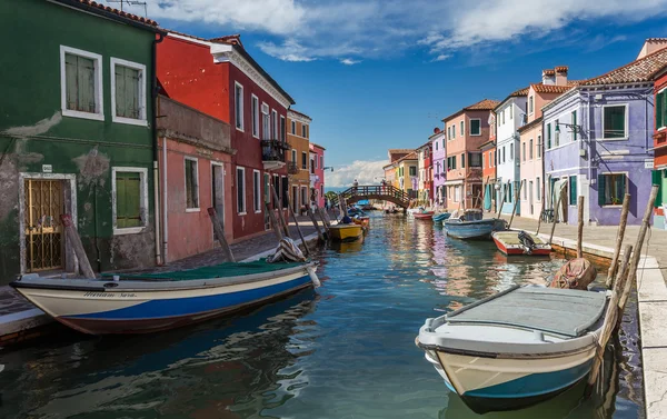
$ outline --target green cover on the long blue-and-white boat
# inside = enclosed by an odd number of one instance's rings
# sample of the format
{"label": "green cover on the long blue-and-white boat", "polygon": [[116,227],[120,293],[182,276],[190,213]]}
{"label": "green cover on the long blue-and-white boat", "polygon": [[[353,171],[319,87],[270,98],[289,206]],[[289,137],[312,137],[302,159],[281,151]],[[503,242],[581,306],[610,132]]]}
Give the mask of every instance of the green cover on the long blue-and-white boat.
{"label": "green cover on the long blue-and-white boat", "polygon": [[[188,281],[197,279],[213,279],[227,277],[241,277],[246,275],[273,272],[288,268],[296,268],[303,263],[298,262],[278,262],[269,263],[266,259],[260,259],[255,262],[226,262],[210,267],[201,267],[197,269],[188,269],[173,272],[156,272],[156,273],[133,273],[120,275],[121,279],[135,280],[168,280],[168,281]],[[102,277],[112,277],[118,273],[102,273]]]}

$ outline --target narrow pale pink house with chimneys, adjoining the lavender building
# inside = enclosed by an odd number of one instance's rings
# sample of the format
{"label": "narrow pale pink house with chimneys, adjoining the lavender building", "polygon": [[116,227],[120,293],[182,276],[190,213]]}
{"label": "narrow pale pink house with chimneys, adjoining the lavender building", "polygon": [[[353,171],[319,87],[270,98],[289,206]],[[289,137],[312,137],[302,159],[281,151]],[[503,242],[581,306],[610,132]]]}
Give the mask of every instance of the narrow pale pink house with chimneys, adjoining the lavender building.
{"label": "narrow pale pink house with chimneys, adjoining the lavender building", "polygon": [[545,209],[542,107],[578,81],[568,80],[568,67],[542,71],[542,81],[528,89],[527,123],[518,129],[520,140],[521,217],[538,219]]}

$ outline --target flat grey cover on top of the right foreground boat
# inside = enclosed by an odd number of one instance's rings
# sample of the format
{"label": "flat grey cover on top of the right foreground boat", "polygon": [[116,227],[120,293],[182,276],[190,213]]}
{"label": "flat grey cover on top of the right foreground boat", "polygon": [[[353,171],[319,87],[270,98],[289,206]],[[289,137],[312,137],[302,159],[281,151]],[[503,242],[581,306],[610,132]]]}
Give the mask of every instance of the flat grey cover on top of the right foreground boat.
{"label": "flat grey cover on top of the right foreground boat", "polygon": [[604,292],[544,287],[510,288],[446,316],[447,322],[529,328],[578,337],[603,316]]}

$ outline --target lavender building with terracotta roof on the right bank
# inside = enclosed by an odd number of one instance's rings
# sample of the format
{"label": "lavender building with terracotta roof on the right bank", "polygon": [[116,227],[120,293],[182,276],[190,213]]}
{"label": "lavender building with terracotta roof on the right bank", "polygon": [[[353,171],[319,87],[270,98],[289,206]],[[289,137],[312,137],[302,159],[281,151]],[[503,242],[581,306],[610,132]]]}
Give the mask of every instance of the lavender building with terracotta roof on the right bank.
{"label": "lavender building with terracotta roof on the right bank", "polygon": [[542,108],[547,207],[558,193],[556,216],[577,223],[577,199],[585,197],[587,223],[618,225],[626,192],[629,225],[638,225],[651,184],[653,77],[667,64],[667,49],[574,87]]}

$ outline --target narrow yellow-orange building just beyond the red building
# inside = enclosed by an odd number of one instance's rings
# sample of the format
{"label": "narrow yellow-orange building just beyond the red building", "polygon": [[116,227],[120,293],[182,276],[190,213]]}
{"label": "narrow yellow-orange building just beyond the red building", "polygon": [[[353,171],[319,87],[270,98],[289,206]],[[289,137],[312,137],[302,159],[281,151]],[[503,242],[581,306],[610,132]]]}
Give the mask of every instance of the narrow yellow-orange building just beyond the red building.
{"label": "narrow yellow-orange building just beyond the red building", "polygon": [[293,109],[287,111],[287,142],[291,147],[287,156],[290,200],[297,212],[309,202],[310,187],[310,122],[305,113]]}

